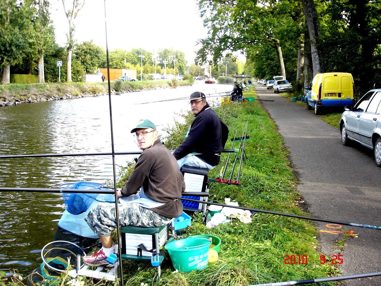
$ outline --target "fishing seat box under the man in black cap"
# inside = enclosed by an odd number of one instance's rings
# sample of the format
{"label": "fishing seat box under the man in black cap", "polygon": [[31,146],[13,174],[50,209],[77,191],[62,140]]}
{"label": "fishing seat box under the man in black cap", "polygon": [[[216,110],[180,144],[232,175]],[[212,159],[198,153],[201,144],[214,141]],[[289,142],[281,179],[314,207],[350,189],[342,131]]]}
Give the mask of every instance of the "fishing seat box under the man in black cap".
{"label": "fishing seat box under the man in black cap", "polygon": [[[182,198],[197,199],[200,201],[208,201],[209,189],[208,186],[208,169],[191,167],[183,165],[181,167],[181,173],[184,176],[185,192],[182,193]],[[200,196],[186,196],[186,193],[202,193]],[[201,202],[191,202],[181,200],[184,212],[187,214],[193,214],[194,212],[201,211],[206,214],[206,204]]]}

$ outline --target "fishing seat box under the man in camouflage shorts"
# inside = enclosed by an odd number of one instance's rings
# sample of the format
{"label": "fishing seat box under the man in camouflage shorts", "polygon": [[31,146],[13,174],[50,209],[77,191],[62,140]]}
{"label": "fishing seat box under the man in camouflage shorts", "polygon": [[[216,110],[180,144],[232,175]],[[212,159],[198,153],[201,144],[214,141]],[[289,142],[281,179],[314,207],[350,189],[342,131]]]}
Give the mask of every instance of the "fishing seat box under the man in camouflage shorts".
{"label": "fishing seat box under the man in camouflage shorts", "polygon": [[152,252],[144,251],[138,247],[144,244],[147,250],[156,248],[155,233],[158,233],[159,247],[162,247],[168,239],[167,225],[162,227],[133,227],[131,225],[121,227],[121,251],[122,259],[127,260],[151,260]]}

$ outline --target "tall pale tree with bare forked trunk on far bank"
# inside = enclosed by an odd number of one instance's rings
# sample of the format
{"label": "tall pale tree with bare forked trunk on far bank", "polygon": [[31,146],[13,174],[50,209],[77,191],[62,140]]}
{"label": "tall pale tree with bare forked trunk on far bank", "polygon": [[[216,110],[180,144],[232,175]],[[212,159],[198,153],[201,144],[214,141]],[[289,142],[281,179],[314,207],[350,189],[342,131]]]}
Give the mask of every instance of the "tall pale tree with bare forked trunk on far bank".
{"label": "tall pale tree with bare forked trunk on far bank", "polygon": [[67,71],[66,71],[66,81],[72,81],[72,71],[71,71],[71,61],[72,61],[72,51],[74,47],[74,20],[77,18],[78,12],[82,9],[85,4],[85,0],[70,0],[73,5],[69,10],[66,11],[65,2],[66,0],[62,0],[62,5],[64,6],[65,15],[67,18],[67,22],[69,22],[69,34],[67,34],[67,55],[66,55],[66,63],[67,63]]}

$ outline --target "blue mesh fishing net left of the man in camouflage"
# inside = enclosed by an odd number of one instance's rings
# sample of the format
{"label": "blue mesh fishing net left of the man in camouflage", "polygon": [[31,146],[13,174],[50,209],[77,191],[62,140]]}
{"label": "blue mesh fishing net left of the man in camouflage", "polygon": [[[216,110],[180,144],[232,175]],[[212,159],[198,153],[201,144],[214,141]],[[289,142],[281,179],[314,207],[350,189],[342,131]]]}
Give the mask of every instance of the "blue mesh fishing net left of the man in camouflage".
{"label": "blue mesh fishing net left of the man in camouflage", "polygon": [[[77,182],[61,184],[58,187],[60,189],[95,190],[102,186],[101,183]],[[62,193],[66,210],[74,215],[85,212],[98,196],[99,194]]]}

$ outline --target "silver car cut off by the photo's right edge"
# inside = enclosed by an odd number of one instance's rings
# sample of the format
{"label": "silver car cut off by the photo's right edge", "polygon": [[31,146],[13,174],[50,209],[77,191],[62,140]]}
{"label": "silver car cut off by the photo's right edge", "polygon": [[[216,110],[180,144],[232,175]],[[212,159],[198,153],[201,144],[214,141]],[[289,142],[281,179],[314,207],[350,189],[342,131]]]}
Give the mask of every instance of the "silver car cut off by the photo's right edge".
{"label": "silver car cut off by the photo's right edge", "polygon": [[378,167],[381,167],[380,102],[381,89],[372,89],[355,106],[347,105],[339,122],[343,145],[352,140],[373,149]]}

